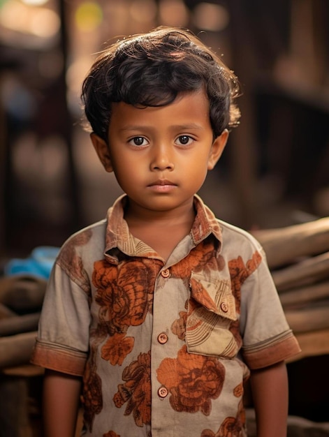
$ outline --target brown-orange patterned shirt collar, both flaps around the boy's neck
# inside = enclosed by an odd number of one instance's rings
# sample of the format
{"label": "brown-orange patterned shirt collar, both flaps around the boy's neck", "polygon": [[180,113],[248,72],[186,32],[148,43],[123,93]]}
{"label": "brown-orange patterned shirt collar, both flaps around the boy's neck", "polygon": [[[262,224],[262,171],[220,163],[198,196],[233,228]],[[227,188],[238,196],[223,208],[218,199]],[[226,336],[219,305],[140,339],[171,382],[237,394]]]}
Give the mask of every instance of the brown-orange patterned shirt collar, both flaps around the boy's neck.
{"label": "brown-orange patterned shirt collar, both flaps around the boy's neck", "polygon": [[[150,251],[146,244],[136,244],[137,240],[129,232],[128,224],[124,220],[126,199],[126,194],[121,195],[108,209],[105,236],[106,258],[111,262],[117,262],[120,252],[130,256],[158,258],[156,252]],[[193,244],[199,244],[212,234],[217,240],[217,251],[219,252],[221,249],[221,228],[217,218],[198,195],[194,196],[194,207],[196,218],[191,228]]]}

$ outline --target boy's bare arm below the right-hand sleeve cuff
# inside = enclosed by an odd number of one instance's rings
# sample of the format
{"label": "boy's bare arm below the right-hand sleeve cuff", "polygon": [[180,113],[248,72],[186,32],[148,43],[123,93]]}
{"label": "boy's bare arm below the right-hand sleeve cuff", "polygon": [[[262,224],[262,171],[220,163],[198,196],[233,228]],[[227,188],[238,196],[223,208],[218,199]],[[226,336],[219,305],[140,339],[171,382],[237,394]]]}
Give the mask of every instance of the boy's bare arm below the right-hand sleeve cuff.
{"label": "boy's bare arm below the right-hand sleeve cuff", "polygon": [[251,371],[257,437],[286,437],[288,376],[284,361]]}

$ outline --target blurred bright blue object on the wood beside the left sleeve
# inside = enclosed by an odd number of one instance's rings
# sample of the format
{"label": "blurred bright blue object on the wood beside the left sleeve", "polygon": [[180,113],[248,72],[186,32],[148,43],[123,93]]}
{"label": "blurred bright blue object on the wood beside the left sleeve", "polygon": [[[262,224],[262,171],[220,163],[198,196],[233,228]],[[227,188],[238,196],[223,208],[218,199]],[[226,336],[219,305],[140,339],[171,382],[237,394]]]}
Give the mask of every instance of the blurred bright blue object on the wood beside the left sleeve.
{"label": "blurred bright blue object on the wood beside the left sleeve", "polygon": [[48,279],[58,253],[59,247],[38,246],[31,252],[29,258],[10,260],[5,265],[4,272],[6,275],[27,273]]}

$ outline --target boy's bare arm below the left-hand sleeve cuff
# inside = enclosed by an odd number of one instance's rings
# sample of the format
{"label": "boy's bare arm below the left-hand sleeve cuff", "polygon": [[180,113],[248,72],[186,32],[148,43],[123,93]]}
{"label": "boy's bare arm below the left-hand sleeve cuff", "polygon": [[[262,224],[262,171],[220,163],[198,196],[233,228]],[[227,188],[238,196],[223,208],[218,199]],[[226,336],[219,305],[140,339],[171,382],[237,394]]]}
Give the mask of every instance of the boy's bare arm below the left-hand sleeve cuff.
{"label": "boy's bare arm below the left-hand sleeve cuff", "polygon": [[74,437],[81,378],[49,369],[43,382],[45,437]]}

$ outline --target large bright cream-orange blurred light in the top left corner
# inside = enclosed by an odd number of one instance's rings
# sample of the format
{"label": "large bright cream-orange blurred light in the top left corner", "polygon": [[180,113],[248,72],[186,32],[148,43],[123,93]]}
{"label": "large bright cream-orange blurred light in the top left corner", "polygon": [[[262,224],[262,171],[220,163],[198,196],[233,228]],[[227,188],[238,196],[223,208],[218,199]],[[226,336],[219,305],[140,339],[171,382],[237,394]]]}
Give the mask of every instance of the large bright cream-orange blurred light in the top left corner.
{"label": "large bright cream-orange blurred light in the top left corner", "polygon": [[0,23],[6,29],[41,38],[50,38],[59,31],[60,20],[54,10],[35,6],[31,8],[17,0],[3,5]]}

